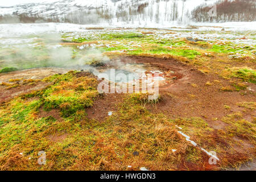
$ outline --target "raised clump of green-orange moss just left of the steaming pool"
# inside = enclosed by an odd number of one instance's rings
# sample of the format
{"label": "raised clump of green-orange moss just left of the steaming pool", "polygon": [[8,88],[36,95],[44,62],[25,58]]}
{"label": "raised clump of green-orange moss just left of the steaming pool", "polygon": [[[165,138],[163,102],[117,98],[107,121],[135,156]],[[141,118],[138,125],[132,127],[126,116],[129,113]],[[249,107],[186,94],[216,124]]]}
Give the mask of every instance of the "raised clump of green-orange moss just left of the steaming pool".
{"label": "raised clump of green-orange moss just left of the steaming pool", "polygon": [[[68,72],[44,79],[44,81],[55,82],[55,85],[44,91],[44,109],[60,109],[64,117],[69,117],[93,105],[93,99],[98,96],[97,81],[94,78],[76,78],[75,73]],[[88,82],[94,84],[87,85]],[[65,93],[66,89],[68,94]]]}

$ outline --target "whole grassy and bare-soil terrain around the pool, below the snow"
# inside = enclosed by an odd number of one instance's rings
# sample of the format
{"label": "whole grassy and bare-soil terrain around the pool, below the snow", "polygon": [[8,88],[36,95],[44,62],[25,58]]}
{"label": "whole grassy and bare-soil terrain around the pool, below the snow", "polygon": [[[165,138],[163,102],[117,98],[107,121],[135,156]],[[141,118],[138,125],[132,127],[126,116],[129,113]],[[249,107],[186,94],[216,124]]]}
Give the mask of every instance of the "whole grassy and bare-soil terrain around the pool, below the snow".
{"label": "whole grassy and bare-soil terrain around the pool, below the snow", "polygon": [[[255,32],[200,28],[3,36],[1,169],[254,169]],[[99,93],[111,68],[160,73],[159,97]]]}

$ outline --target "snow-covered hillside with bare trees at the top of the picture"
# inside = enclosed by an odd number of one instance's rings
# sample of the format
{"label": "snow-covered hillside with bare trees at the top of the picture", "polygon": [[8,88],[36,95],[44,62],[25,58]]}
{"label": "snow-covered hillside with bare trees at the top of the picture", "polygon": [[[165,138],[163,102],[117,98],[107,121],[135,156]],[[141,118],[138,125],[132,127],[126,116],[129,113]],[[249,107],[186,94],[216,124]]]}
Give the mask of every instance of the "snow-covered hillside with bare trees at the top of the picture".
{"label": "snow-covered hillside with bare trees at the top of the picture", "polygon": [[40,16],[58,18],[59,22],[150,24],[184,22],[193,8],[217,0],[59,0],[0,6],[0,15]]}

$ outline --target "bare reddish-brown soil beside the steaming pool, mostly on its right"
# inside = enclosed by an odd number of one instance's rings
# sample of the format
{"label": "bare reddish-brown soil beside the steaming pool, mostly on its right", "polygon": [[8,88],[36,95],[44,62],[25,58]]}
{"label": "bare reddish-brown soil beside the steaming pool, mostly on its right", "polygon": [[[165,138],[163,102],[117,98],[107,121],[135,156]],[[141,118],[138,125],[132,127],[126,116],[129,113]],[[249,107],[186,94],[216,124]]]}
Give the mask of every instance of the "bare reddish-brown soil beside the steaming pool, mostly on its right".
{"label": "bare reddish-brown soil beside the steaming pool, mostly on its right", "polygon": [[[221,87],[230,86],[228,80],[224,80],[224,78],[214,74],[205,75],[197,71],[194,67],[185,65],[174,59],[141,56],[121,57],[119,59],[129,63],[150,64],[162,71],[174,71],[172,76],[176,76],[177,79],[159,88],[162,101],[159,104],[147,106],[152,113],[164,113],[171,118],[203,117],[210,126],[220,128],[222,125],[225,125],[220,119],[226,114],[243,111],[242,108],[237,106],[238,102],[256,101],[255,91],[241,91],[244,94],[236,91],[224,92],[221,90]],[[214,82],[214,80],[220,82]],[[213,85],[205,85],[207,81]],[[254,84],[247,85],[252,90],[256,90]],[[102,108],[110,111],[113,105],[122,101],[120,98],[122,95],[119,97],[118,95],[117,93],[107,94],[104,100],[96,101],[91,110],[100,105]],[[224,105],[230,106],[231,109],[225,109]],[[248,120],[251,121],[252,117],[255,117],[255,113],[250,110],[246,111]],[[97,114],[101,115],[102,113],[97,112]],[[97,115],[94,117],[97,118]]]}

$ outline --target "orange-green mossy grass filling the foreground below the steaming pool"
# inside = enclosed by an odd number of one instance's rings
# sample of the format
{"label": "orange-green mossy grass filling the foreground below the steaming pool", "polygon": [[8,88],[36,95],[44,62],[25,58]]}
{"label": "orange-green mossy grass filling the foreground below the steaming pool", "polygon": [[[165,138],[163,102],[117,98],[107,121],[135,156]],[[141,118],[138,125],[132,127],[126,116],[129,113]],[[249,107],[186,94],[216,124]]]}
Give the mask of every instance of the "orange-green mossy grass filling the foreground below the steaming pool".
{"label": "orange-green mossy grass filling the foreground below the steaming pool", "polygon": [[[237,167],[250,159],[246,155],[235,159],[236,152],[228,150],[236,144],[230,140],[234,136],[255,144],[255,124],[239,114],[223,118],[229,124],[227,131],[216,133],[203,118],[170,119],[152,114],[146,105],[158,104],[161,97],[149,102],[148,94],[134,93],[123,96],[113,115],[97,121],[89,119],[85,109],[105,96],[98,94],[95,78],[76,75],[68,72],[44,78],[51,83],[47,88],[16,97],[0,107],[1,169],[127,170],[132,166],[134,170],[208,170]],[[253,102],[238,105],[255,109]],[[55,111],[61,119],[44,116],[42,111]],[[209,165],[209,156],[178,131],[205,150],[216,151],[221,162]],[[37,163],[39,151],[46,151],[46,165]]]}

